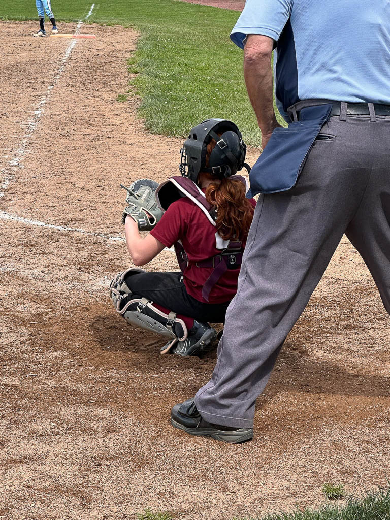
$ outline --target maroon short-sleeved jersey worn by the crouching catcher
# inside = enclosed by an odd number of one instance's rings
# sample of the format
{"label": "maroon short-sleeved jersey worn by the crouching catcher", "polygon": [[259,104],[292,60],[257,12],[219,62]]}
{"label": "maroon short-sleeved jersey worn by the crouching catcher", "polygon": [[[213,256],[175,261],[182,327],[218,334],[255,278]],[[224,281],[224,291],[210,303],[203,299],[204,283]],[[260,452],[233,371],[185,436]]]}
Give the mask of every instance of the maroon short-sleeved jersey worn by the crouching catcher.
{"label": "maroon short-sleeved jersey worn by the crouching catcher", "polygon": [[[250,202],[253,206],[256,205],[254,199],[250,199]],[[150,231],[150,234],[167,248],[171,248],[178,240],[181,241],[188,256],[184,284],[188,294],[204,303],[207,302],[202,296],[202,288],[213,268],[197,267],[195,264],[221,253],[221,250],[217,249],[215,233],[215,226],[200,207],[187,197],[172,202],[157,226]],[[245,246],[245,241],[242,246]],[[237,292],[239,272],[240,268],[226,271],[211,290],[208,303],[224,303],[231,300]]]}

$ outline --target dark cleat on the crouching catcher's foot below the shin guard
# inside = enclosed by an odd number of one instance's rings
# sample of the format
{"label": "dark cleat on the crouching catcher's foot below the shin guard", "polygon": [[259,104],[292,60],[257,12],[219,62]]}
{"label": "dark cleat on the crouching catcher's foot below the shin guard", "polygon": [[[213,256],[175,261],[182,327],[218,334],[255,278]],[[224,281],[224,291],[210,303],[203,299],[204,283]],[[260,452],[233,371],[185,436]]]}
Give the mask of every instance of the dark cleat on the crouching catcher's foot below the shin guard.
{"label": "dark cleat on the crouching catcher's foot below the shin guard", "polygon": [[188,332],[185,340],[168,342],[161,349],[161,354],[171,352],[181,357],[199,356],[210,346],[217,337],[217,331],[208,323],[199,323],[194,320],[192,329]]}

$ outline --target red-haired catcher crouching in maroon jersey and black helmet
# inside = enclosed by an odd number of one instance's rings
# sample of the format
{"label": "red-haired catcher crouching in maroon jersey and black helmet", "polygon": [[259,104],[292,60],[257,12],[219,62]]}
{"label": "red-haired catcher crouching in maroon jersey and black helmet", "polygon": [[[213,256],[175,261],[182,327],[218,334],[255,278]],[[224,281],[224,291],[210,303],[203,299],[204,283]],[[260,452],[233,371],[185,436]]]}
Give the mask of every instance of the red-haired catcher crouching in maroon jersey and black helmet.
{"label": "red-haired catcher crouching in maroon jersey and black helmet", "polygon": [[[141,179],[125,188],[122,223],[136,266],[173,245],[181,271],[127,269],[112,280],[110,296],[128,323],[168,339],[162,354],[194,356],[216,339],[209,322],[224,323],[237,292],[255,201],[245,198],[246,181],[236,175],[250,167],[232,122],[204,121],[180,152],[181,177],[160,186]],[[141,238],[139,230],[150,233]]]}

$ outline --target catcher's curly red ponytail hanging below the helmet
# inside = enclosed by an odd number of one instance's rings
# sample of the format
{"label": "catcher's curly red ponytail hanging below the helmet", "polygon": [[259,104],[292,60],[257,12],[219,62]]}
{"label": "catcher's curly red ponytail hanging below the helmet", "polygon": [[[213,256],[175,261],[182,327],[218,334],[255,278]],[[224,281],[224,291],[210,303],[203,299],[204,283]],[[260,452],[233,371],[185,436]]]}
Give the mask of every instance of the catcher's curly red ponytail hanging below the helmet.
{"label": "catcher's curly red ponytail hanging below the helmet", "polygon": [[[209,158],[216,144],[212,139],[207,145],[206,166],[209,166]],[[214,180],[207,186],[205,195],[207,202],[217,210],[216,228],[220,237],[224,240],[245,240],[254,213],[252,204],[245,197],[245,185],[234,177],[220,180],[211,173],[201,172],[198,183],[201,184],[204,179]]]}

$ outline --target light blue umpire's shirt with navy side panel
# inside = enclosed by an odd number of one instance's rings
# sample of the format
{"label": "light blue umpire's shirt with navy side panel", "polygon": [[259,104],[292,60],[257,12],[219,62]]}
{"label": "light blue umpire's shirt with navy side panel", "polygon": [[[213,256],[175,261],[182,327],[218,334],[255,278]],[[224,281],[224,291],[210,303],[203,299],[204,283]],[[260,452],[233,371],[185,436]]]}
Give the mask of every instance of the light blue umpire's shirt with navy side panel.
{"label": "light blue umpire's shirt with navy side panel", "polygon": [[246,0],[230,37],[248,34],[277,42],[284,115],[303,99],[390,103],[390,0]]}

